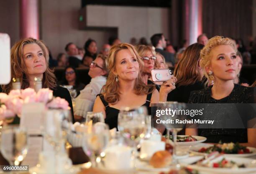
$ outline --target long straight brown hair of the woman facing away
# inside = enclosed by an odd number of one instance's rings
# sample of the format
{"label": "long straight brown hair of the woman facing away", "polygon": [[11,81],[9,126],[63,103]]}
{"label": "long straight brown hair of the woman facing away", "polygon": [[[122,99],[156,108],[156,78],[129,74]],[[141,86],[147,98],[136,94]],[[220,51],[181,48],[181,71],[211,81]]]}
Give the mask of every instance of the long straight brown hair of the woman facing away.
{"label": "long straight brown hair of the woman facing away", "polygon": [[200,51],[204,45],[192,44],[184,50],[180,61],[174,69],[174,76],[177,77],[177,86],[187,86],[200,81],[200,72],[198,69],[200,60]]}

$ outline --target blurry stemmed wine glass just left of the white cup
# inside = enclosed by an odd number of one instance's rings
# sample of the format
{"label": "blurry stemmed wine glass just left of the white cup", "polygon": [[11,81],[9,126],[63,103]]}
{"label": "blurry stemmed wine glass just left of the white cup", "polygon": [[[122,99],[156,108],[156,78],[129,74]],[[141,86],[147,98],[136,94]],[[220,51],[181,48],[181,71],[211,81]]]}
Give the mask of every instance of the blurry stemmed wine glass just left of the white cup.
{"label": "blurry stemmed wine glass just left of the white cup", "polygon": [[110,139],[109,127],[105,123],[95,123],[87,126],[86,145],[88,151],[91,153],[91,162],[93,167],[97,167],[101,161],[100,154],[108,146]]}

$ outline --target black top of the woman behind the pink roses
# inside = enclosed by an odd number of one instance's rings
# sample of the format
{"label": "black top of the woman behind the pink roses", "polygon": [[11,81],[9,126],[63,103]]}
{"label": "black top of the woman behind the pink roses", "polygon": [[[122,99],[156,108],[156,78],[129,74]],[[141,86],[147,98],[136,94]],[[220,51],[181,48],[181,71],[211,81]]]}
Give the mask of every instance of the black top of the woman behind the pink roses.
{"label": "black top of the woman behind the pink roses", "polygon": [[67,90],[67,88],[64,87],[60,87],[57,86],[55,89],[51,89],[53,90],[53,95],[55,97],[61,97],[65,100],[67,100],[67,102],[69,102],[69,107],[71,108],[71,115],[72,115],[72,119],[73,119],[73,123],[74,123],[74,112],[73,112],[73,105],[72,105],[72,100],[69,94],[69,91]]}

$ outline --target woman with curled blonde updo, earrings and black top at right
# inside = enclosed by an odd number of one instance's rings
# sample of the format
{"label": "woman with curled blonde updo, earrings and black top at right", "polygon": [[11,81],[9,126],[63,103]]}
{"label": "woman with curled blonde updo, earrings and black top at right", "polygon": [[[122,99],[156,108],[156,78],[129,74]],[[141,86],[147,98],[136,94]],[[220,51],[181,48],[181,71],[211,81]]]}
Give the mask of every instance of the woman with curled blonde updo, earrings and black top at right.
{"label": "woman with curled blonde updo, earrings and black top at right", "polygon": [[[191,92],[190,103],[255,103],[253,88],[234,84],[238,61],[236,45],[229,38],[211,38],[200,53],[200,67],[213,85]],[[251,115],[246,115],[250,117]],[[239,142],[256,146],[255,129],[186,129],[187,135],[205,136],[208,143]]]}

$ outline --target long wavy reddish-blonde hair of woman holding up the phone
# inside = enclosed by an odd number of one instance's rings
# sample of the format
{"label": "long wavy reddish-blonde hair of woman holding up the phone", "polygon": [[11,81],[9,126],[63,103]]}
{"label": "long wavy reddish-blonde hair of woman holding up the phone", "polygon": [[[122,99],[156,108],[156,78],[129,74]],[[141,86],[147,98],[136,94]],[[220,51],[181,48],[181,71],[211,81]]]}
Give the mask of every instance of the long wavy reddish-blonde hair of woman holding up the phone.
{"label": "long wavy reddish-blonde hair of woman holding up the phone", "polygon": [[120,100],[120,91],[119,91],[120,82],[115,81],[114,71],[116,69],[116,54],[118,53],[118,51],[123,49],[128,49],[131,52],[131,55],[138,61],[138,64],[139,64],[138,77],[136,78],[135,84],[133,87],[135,94],[145,95],[145,94],[152,93],[154,91],[154,86],[146,85],[141,78],[143,63],[141,61],[141,57],[138,55],[134,46],[126,43],[114,45],[111,47],[108,58],[106,59],[106,67],[109,69],[109,74],[108,74],[108,79],[106,84],[102,87],[102,94],[104,96],[104,100],[112,104],[115,104]]}

